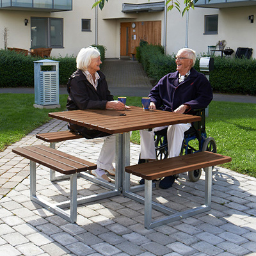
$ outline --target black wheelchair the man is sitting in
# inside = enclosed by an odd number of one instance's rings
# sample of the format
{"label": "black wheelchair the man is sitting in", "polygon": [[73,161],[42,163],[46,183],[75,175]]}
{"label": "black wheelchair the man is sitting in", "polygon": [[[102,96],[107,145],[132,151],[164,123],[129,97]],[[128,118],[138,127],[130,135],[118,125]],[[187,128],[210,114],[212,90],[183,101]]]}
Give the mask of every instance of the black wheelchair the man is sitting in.
{"label": "black wheelchair the man is sitting in", "polygon": [[[205,132],[205,109],[195,109],[194,114],[201,116],[202,120],[193,122],[188,131],[184,132],[184,139],[180,150],[180,156],[201,151],[217,152],[216,141],[212,137],[207,138]],[[155,148],[157,159],[168,157],[168,143],[166,138],[167,128],[155,132]],[[189,180],[196,182],[200,179],[202,169],[188,172]]]}

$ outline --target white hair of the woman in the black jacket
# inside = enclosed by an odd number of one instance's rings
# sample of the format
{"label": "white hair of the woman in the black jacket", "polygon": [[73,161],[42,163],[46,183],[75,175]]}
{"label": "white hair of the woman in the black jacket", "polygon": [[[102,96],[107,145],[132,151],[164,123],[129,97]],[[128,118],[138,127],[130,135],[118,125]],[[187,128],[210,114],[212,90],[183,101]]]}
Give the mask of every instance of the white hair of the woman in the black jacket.
{"label": "white hair of the woman in the black jacket", "polygon": [[76,57],[76,67],[83,71],[88,70],[92,59],[98,58],[100,56],[100,52],[96,47],[86,47],[82,48]]}

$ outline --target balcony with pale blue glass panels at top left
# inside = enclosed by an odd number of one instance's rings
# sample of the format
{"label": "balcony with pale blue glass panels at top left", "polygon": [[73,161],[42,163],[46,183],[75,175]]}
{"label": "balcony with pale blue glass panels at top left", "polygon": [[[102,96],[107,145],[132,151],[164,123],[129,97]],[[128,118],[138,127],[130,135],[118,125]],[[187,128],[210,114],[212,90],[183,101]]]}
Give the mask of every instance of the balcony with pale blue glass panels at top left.
{"label": "balcony with pale blue glass panels at top left", "polygon": [[0,0],[0,10],[61,12],[72,10],[72,0]]}

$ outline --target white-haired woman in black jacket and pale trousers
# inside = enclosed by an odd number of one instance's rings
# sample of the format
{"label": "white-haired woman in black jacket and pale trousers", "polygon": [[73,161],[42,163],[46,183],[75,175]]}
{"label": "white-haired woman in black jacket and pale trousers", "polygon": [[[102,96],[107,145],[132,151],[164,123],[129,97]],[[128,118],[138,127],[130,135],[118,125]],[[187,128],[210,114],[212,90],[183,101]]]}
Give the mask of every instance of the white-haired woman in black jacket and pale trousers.
{"label": "white-haired woman in black jacket and pale trousers", "polygon": [[[106,77],[100,72],[100,52],[95,47],[87,47],[79,51],[77,70],[68,79],[67,109],[118,109],[127,108],[122,102],[113,100],[113,95],[108,90]],[[92,174],[99,179],[111,182],[106,175],[107,171],[115,175],[113,160],[115,157],[115,134],[108,134],[79,125],[69,124],[68,129],[82,134],[84,138],[98,138],[106,136],[97,160],[97,169]]]}

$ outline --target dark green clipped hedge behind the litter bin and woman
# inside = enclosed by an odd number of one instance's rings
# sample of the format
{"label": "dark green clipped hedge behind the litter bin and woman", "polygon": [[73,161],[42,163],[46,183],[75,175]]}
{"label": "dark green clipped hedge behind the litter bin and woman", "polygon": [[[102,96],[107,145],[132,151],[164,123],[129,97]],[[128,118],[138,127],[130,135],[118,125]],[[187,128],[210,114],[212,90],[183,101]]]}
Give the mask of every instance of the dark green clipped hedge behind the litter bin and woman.
{"label": "dark green clipped hedge behind the litter bin and woman", "polygon": [[[100,51],[102,62],[105,60],[106,47],[93,45]],[[76,58],[66,56],[49,58],[59,61],[60,84],[67,84],[68,77],[76,71]],[[24,56],[14,51],[0,50],[0,87],[33,87],[34,86],[34,63],[33,61],[43,60],[33,56]]]}

